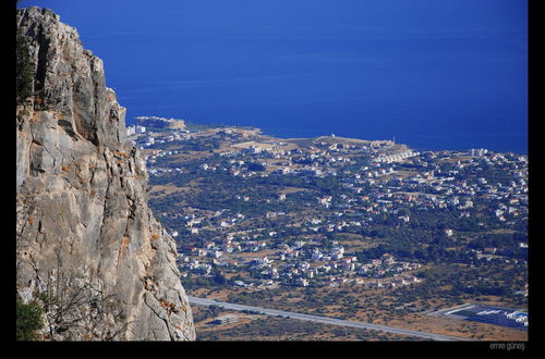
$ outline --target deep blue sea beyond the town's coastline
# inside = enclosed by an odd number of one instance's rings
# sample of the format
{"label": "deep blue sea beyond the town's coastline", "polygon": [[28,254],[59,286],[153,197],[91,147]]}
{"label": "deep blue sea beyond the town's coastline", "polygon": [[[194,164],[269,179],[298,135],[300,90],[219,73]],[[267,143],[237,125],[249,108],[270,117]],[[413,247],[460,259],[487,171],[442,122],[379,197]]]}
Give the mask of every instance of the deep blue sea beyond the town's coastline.
{"label": "deep blue sea beyond the town's coastline", "polygon": [[137,115],[526,153],[523,0],[21,1]]}

